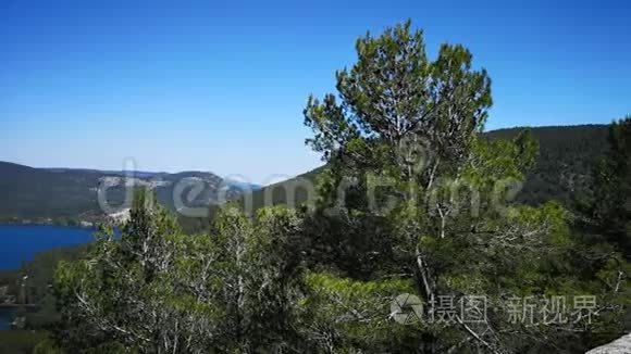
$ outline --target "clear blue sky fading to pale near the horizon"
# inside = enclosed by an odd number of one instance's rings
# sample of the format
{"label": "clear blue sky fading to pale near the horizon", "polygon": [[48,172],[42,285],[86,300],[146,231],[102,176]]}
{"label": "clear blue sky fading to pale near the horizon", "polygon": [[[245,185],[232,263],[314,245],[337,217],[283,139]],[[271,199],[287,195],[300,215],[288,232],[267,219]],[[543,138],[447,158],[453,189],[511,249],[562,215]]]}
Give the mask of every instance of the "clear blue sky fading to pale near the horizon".
{"label": "clear blue sky fading to pale near the horizon", "polygon": [[469,47],[488,129],[631,113],[631,2],[0,1],[0,160],[211,170],[264,182],[319,165],[309,93],[367,30],[411,18],[430,54]]}

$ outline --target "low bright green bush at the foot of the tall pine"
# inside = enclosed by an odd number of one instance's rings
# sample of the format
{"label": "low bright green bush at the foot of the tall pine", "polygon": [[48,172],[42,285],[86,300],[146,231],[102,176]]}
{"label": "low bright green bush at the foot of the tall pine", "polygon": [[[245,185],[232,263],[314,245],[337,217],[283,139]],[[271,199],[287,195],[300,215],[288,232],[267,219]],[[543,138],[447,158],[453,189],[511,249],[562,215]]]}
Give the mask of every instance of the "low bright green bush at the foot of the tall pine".
{"label": "low bright green bush at the foot of the tall pine", "polygon": [[308,274],[308,296],[299,303],[299,328],[313,351],[383,353],[418,347],[416,328],[392,319],[391,304],[413,293],[409,279],[357,281],[331,274]]}

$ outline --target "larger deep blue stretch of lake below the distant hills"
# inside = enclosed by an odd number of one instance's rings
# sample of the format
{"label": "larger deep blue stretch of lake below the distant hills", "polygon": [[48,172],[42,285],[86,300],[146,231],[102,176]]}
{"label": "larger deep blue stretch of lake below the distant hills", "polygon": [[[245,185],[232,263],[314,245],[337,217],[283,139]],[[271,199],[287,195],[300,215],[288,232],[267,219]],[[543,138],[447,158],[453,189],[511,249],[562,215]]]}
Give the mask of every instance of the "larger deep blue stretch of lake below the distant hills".
{"label": "larger deep blue stretch of lake below the distant hills", "polygon": [[94,230],[51,225],[0,225],[0,270],[17,269],[35,254],[94,240]]}

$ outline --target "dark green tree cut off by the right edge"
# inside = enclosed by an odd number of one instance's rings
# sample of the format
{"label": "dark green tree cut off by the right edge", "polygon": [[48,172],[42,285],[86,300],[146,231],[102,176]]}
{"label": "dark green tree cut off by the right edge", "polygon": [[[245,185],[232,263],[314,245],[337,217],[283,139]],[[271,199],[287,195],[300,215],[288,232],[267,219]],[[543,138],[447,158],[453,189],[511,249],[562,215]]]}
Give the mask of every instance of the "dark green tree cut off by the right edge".
{"label": "dark green tree cut off by the right edge", "polygon": [[593,166],[593,195],[580,205],[573,225],[576,267],[592,289],[605,286],[603,296],[614,308],[597,324],[598,331],[589,333],[593,342],[602,332],[631,330],[631,118],[611,124],[608,142]]}

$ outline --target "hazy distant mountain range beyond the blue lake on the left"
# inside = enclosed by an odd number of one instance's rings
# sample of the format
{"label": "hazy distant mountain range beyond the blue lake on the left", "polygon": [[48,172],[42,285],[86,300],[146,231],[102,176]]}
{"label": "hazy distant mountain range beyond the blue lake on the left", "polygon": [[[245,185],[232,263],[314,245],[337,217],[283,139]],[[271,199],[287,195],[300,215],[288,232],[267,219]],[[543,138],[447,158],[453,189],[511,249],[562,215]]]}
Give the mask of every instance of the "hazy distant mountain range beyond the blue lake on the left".
{"label": "hazy distant mountain range beyond the blue lake on the left", "polygon": [[0,220],[98,220],[106,214],[98,191],[112,206],[123,203],[133,186],[147,187],[171,210],[208,208],[220,198],[234,199],[243,188],[205,172],[176,174],[81,168],[34,168],[0,162]]}

